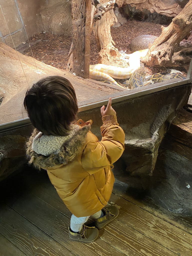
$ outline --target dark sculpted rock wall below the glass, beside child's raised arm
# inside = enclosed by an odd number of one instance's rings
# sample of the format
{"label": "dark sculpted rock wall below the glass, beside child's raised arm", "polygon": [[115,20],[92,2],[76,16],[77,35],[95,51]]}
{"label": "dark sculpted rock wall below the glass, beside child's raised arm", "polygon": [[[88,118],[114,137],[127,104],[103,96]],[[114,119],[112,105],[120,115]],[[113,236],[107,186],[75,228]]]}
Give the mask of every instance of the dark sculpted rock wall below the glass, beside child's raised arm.
{"label": "dark sculpted rock wall below the glass, beside child's raised arm", "polygon": [[[191,90],[190,85],[171,88],[114,105],[118,121],[125,131],[125,151],[115,173],[122,176],[152,175],[158,148],[176,110],[182,108]],[[80,114],[83,120],[94,120],[93,133],[100,137],[100,110]]]}

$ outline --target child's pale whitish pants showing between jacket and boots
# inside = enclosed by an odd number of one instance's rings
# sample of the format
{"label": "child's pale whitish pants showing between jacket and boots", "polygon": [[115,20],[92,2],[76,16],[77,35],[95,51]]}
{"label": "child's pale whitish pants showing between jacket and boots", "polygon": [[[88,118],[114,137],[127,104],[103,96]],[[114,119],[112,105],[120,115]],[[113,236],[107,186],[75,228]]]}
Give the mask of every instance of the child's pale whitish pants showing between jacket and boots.
{"label": "child's pale whitish pants showing between jacket and boots", "polygon": [[74,215],[71,216],[71,223],[70,223],[70,228],[72,231],[74,232],[79,232],[81,231],[83,224],[86,223],[89,219],[89,217],[93,218],[93,219],[98,219],[102,214],[102,211],[98,211],[95,214],[91,215],[91,216],[87,216],[87,217],[75,217]]}

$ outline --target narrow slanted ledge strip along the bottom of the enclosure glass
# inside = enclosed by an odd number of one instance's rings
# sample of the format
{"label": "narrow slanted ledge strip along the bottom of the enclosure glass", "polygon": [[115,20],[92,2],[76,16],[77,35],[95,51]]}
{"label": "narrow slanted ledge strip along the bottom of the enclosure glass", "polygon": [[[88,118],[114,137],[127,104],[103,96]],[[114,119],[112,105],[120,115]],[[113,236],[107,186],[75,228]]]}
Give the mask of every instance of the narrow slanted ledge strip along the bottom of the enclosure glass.
{"label": "narrow slanted ledge strip along the bottom of the enclosure glass", "polygon": [[[192,69],[192,60],[191,60],[190,65],[191,65],[191,69]],[[191,76],[191,73],[192,73],[192,71],[190,71],[190,76]],[[147,89],[142,90],[142,91],[135,91],[135,92],[123,91],[123,92],[119,92],[119,93],[106,95],[105,96],[106,99],[104,99],[104,100],[100,100],[100,101],[85,104],[85,105],[80,105],[81,102],[79,102],[79,104],[78,104],[79,105],[79,111],[78,112],[84,112],[84,111],[88,111],[88,110],[91,110],[91,109],[96,109],[96,108],[99,108],[103,105],[106,105],[108,103],[109,97],[112,98],[113,103],[119,103],[119,102],[122,102],[122,101],[125,101],[125,100],[131,100],[131,99],[141,97],[141,96],[144,96],[144,95],[147,95],[147,94],[151,94],[151,93],[154,93],[154,92],[167,90],[167,89],[182,86],[182,85],[185,85],[185,84],[190,84],[191,82],[192,82],[192,78],[189,78],[189,79],[185,79],[185,80],[181,80],[181,81],[176,81],[174,83],[172,82],[172,83],[169,83],[169,84],[163,84],[163,85],[158,86],[158,87],[147,88]],[[122,95],[117,95],[117,94],[122,94]],[[104,98],[104,97],[102,97],[102,98]],[[89,101],[87,101],[87,102],[89,102]],[[86,103],[86,101],[82,102],[82,103]],[[30,124],[29,118],[24,118],[24,119],[15,120],[15,121],[12,121],[12,122],[7,122],[7,123],[4,123],[4,124],[0,124],[0,132],[2,133],[2,132],[7,131],[7,130],[12,130],[16,127],[19,129],[19,127],[22,127],[22,126],[25,126],[25,125],[28,125],[28,124]]]}

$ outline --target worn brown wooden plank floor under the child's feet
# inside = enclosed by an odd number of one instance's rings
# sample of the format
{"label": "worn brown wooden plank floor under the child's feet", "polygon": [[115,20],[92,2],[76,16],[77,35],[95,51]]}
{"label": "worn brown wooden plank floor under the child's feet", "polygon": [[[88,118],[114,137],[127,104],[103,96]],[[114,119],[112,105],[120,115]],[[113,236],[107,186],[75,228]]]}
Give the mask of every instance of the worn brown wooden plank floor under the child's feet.
{"label": "worn brown wooden plank floor under the child's feet", "polygon": [[47,174],[26,169],[1,185],[1,256],[191,256],[192,220],[136,200],[115,185],[118,219],[91,244],[68,238],[70,212]]}

